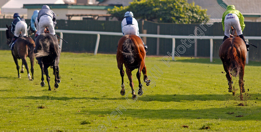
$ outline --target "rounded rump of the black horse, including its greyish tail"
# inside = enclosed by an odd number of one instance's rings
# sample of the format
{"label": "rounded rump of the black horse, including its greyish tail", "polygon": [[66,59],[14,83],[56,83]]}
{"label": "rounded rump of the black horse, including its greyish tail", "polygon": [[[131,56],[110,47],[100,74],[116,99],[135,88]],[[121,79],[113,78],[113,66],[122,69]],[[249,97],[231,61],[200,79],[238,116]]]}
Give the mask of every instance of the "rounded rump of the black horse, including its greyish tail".
{"label": "rounded rump of the black horse, including its greyish tail", "polygon": [[[55,53],[54,48],[55,43],[55,36],[52,34],[40,34],[35,39],[35,58],[42,57],[42,56],[48,56],[50,53]],[[58,45],[58,44],[57,44]],[[55,53],[57,55],[57,53]]]}

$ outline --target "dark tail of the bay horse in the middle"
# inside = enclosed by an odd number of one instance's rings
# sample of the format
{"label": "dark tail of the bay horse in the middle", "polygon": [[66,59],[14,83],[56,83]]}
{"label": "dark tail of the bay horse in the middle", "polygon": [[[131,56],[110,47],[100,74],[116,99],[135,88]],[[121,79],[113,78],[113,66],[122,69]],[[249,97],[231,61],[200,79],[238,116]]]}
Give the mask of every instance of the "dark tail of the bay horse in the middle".
{"label": "dark tail of the bay horse in the middle", "polygon": [[132,64],[134,62],[134,43],[130,38],[126,39],[122,44],[122,55],[126,63]]}

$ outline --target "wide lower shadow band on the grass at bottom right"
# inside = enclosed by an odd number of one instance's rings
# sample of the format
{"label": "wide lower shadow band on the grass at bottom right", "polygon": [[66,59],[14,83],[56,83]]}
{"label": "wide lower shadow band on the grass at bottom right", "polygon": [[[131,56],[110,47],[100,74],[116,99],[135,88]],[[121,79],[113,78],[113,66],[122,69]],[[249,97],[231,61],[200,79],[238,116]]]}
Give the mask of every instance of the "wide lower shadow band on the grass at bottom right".
{"label": "wide lower shadow band on the grass at bottom right", "polygon": [[[117,107],[117,106],[116,106]],[[124,105],[123,105],[124,107]],[[164,106],[163,106],[164,107]],[[124,118],[141,118],[141,119],[225,119],[232,121],[244,121],[244,120],[260,120],[261,118],[261,107],[253,106],[249,108],[243,108],[240,106],[234,107],[222,107],[222,108],[186,108],[178,109],[173,106],[173,109],[119,109],[123,114],[120,115],[118,120]],[[115,109],[106,110],[92,110],[89,114],[92,115],[107,115],[111,112],[116,111]],[[117,111],[116,111],[117,112]],[[234,112],[234,114],[228,114],[228,112]],[[85,112],[83,112],[85,113]],[[81,113],[81,114],[83,114]],[[243,115],[243,117],[236,117]],[[108,115],[109,117],[109,115]],[[106,120],[107,121],[107,120]]]}

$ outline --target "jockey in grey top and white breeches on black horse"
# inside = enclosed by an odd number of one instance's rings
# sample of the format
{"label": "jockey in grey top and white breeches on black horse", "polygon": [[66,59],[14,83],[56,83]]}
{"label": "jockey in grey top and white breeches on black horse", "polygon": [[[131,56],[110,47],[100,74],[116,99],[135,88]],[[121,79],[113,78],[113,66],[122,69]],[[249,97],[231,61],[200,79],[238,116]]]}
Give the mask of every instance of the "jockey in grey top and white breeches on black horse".
{"label": "jockey in grey top and white breeches on black horse", "polygon": [[48,27],[48,30],[51,34],[55,35],[54,27],[56,24],[55,13],[50,10],[50,7],[43,5],[42,9],[39,11],[37,16],[37,21],[39,22],[39,34],[44,33],[45,27]]}

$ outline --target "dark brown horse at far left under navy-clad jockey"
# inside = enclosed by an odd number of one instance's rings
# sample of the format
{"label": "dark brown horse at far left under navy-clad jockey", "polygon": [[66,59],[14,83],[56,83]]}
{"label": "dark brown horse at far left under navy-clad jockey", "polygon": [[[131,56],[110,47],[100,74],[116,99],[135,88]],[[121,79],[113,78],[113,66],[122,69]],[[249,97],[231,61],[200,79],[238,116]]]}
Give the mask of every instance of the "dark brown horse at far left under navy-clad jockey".
{"label": "dark brown horse at far left under navy-clad jockey", "polygon": [[[14,36],[14,34],[12,33],[12,29],[11,26],[7,26],[7,30],[6,30],[6,37],[7,37],[7,42],[10,42],[12,37]],[[29,80],[33,80],[34,79],[34,40],[31,37],[19,37],[17,38],[16,44],[14,45],[14,48],[12,50],[12,55],[14,58],[14,61],[16,63],[16,69],[18,72],[18,78],[21,78],[21,75],[19,73],[19,64],[18,64],[18,60],[17,59],[22,59],[22,69],[21,69],[21,73],[24,73],[24,66],[27,70],[27,74],[28,74],[28,78]],[[28,65],[26,62],[26,57],[30,58],[30,62],[31,62],[31,73],[32,73],[32,78],[30,76],[29,70],[28,70]]]}

